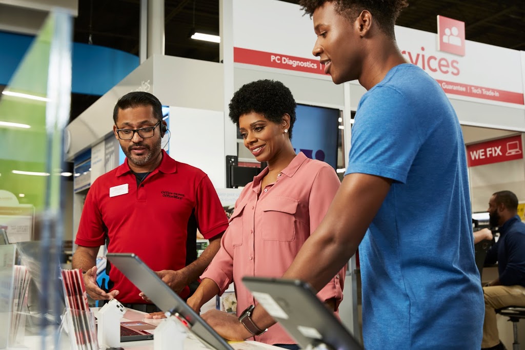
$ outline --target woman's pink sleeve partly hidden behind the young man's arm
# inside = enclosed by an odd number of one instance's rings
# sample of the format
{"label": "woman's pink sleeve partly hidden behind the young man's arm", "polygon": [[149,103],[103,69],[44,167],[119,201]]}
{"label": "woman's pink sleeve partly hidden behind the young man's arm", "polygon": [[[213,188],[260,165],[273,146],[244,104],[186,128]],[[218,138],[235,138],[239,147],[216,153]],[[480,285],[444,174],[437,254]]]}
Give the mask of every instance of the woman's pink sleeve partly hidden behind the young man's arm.
{"label": "woman's pink sleeve partly hidden behind the young man's arm", "polygon": [[[340,185],[341,182],[331,166],[327,164],[327,166],[319,170],[310,191],[310,235],[313,234],[326,215]],[[339,273],[317,293],[318,298],[322,301],[335,299],[335,310],[338,309],[339,304],[343,300],[345,273],[346,267],[343,267]]]}

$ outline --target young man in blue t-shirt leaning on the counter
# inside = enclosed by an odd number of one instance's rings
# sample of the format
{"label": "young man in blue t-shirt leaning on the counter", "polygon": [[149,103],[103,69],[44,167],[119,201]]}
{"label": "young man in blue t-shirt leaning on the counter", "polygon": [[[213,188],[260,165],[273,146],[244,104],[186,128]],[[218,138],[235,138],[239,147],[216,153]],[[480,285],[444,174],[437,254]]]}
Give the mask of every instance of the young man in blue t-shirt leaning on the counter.
{"label": "young man in blue t-shirt leaning on the counter", "polygon": [[[319,290],[361,243],[367,350],[479,350],[484,304],[463,135],[438,83],[397,48],[394,23],[406,1],[300,4],[313,17],[324,72],[369,91],[342,185],[283,277]],[[251,317],[261,329],[274,322],[261,307]],[[249,336],[231,317],[208,321],[228,339]]]}

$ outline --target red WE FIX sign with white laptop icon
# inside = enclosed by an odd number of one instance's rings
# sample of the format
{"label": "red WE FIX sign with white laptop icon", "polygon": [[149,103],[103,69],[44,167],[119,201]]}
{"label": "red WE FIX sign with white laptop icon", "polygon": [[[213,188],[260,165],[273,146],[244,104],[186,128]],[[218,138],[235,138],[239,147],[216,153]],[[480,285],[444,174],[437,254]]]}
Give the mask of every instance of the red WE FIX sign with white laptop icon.
{"label": "red WE FIX sign with white laptop icon", "polygon": [[468,166],[513,161],[523,158],[521,135],[467,146]]}

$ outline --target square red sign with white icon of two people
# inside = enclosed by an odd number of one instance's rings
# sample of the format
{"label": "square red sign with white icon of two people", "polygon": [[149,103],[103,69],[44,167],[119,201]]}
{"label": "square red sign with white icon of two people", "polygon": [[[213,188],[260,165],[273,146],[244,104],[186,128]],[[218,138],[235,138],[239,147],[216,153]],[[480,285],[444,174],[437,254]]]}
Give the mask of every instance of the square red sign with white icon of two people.
{"label": "square red sign with white icon of two people", "polygon": [[437,49],[465,56],[465,22],[437,16]]}

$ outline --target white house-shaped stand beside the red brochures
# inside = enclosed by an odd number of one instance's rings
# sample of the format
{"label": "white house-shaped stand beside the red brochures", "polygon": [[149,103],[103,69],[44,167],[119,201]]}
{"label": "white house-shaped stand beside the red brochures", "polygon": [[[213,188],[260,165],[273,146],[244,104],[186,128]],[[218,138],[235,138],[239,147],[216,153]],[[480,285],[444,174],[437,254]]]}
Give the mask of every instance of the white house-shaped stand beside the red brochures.
{"label": "white house-shaped stand beside the red brochures", "polygon": [[126,313],[125,307],[111,299],[98,312],[98,343],[106,347],[120,347],[120,320]]}

